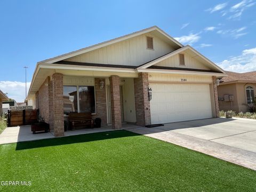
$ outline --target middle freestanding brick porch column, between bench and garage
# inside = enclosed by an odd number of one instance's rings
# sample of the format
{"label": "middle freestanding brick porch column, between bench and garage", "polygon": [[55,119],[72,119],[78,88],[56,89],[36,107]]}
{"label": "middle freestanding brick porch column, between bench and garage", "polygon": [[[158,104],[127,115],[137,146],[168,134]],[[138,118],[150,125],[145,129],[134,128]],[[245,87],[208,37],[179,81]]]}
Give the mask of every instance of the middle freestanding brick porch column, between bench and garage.
{"label": "middle freestanding brick porch column, between bench and garage", "polygon": [[119,76],[112,75],[109,77],[110,82],[110,95],[111,95],[111,116],[112,128],[122,128],[121,117],[121,102],[120,102],[120,78]]}

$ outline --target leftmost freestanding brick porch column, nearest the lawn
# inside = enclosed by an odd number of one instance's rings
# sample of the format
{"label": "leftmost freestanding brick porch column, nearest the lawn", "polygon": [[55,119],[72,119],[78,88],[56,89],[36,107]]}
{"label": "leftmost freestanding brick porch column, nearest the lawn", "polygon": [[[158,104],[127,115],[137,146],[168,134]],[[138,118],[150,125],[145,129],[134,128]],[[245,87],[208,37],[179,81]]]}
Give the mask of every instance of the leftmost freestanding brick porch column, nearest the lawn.
{"label": "leftmost freestanding brick porch column, nearest the lawn", "polygon": [[52,75],[53,89],[53,129],[54,136],[64,135],[64,118],[63,118],[63,75],[54,73]]}

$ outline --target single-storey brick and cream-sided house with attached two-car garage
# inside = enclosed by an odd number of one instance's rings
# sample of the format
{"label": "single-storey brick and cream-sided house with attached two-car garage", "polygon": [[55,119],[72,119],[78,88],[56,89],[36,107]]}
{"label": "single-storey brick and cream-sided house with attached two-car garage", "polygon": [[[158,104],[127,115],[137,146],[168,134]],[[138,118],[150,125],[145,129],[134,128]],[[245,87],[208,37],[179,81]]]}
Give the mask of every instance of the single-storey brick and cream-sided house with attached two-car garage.
{"label": "single-storey brick and cream-sided house with attached two-car garage", "polygon": [[63,114],[90,111],[102,125],[217,117],[217,77],[225,71],[158,27],[37,63],[28,98],[64,134]]}

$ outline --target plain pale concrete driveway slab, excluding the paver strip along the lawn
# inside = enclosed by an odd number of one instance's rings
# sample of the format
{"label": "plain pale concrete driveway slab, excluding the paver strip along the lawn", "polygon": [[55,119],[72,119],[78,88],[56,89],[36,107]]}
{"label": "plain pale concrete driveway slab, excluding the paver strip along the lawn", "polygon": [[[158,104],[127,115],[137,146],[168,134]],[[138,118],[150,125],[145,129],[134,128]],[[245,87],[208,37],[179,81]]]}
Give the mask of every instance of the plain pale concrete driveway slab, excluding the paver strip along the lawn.
{"label": "plain pale concrete driveway slab, excluding the paver strip along the lawn", "polygon": [[203,119],[181,123],[169,123],[165,124],[162,129],[172,130],[176,133],[222,143],[256,153],[255,119]]}

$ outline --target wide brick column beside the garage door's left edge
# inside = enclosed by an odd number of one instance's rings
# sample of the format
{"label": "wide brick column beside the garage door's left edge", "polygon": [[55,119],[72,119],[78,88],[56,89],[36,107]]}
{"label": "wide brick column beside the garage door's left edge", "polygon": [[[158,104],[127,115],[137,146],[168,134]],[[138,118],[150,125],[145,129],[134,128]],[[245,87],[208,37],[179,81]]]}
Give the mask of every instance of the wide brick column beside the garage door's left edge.
{"label": "wide brick column beside the garage door's left edge", "polygon": [[148,73],[139,73],[139,77],[134,78],[134,96],[137,125],[145,126],[151,124]]}

